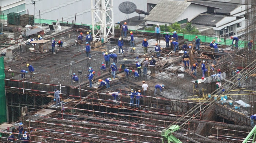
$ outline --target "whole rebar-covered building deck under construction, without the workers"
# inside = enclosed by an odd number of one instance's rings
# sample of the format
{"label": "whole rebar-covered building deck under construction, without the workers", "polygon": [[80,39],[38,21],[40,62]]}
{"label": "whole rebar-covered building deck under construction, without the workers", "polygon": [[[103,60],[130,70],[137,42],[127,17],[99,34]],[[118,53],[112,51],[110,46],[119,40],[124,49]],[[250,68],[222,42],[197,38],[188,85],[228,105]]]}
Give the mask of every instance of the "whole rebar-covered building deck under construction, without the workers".
{"label": "whole rebar-covered building deck under construction, without the workers", "polygon": [[[101,31],[97,25],[92,28],[53,22],[35,24],[31,27],[34,31],[29,32],[17,23],[9,24],[0,35],[0,66],[4,75],[0,90],[0,142],[7,143],[10,131],[14,142],[22,142],[17,140],[17,128],[22,122],[30,143],[254,143],[252,132],[256,128],[251,126],[250,116],[256,113],[256,46],[253,44],[250,49],[247,43],[256,41],[256,1],[245,1],[245,36],[239,39],[238,48],[229,45],[230,37],[179,34],[179,52],[174,52],[172,44],[165,47],[164,32],[158,43],[162,48],[159,58],[154,32],[132,31],[136,48],[132,51],[129,30],[128,38],[123,38],[124,55],[118,55],[120,29]],[[58,26],[61,30],[57,30]],[[105,35],[108,30],[111,34]],[[77,40],[81,32],[89,32],[95,39],[90,43],[91,59],[86,57],[85,42]],[[43,40],[37,40],[38,35]],[[200,51],[195,50],[195,36],[203,41]],[[30,37],[34,41],[27,43]],[[64,43],[55,48],[56,54],[51,52],[53,37]],[[146,55],[142,47],[145,38],[149,44]],[[220,52],[210,47],[213,39],[219,39]],[[192,44],[189,67],[182,62],[181,47],[185,43]],[[106,52],[118,55],[115,79],[110,68],[100,69]],[[142,63],[152,56],[157,62],[148,67],[146,76],[126,77],[123,67],[137,71],[136,61]],[[209,69],[204,79],[203,61]],[[191,74],[194,63],[199,65],[197,76]],[[35,71],[22,78],[20,71],[29,71],[27,64]],[[211,65],[214,71],[210,70]],[[89,67],[95,71],[92,88]],[[215,77],[218,69],[221,78]],[[79,76],[79,82],[73,82],[73,73]],[[98,80],[106,78],[112,78],[110,88],[99,87]],[[216,89],[217,79],[221,80],[222,91]],[[142,90],[143,80],[148,90],[136,107],[130,104],[131,89]],[[154,95],[157,84],[164,84],[163,92],[158,90]],[[60,91],[60,105],[54,101],[54,89]],[[113,92],[118,92],[118,100],[114,100]]]}

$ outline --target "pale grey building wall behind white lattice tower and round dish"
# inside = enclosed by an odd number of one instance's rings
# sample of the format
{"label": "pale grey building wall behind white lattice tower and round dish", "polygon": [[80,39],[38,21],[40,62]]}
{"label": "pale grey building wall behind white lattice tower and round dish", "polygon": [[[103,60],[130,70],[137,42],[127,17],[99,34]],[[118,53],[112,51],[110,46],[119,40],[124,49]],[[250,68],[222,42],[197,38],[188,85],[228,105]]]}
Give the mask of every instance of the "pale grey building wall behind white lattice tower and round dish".
{"label": "pale grey building wall behind white lattice tower and round dish", "polygon": [[[91,0],[35,0],[35,18],[38,18],[40,10],[41,19],[62,20],[64,22],[75,21],[76,23],[91,24]],[[127,19],[127,14],[119,11],[120,3],[127,0],[113,0],[114,22]],[[147,0],[129,0],[135,3],[137,9],[147,11]],[[26,0],[26,9],[33,13],[31,0]],[[129,14],[129,18],[138,16],[138,13]]]}

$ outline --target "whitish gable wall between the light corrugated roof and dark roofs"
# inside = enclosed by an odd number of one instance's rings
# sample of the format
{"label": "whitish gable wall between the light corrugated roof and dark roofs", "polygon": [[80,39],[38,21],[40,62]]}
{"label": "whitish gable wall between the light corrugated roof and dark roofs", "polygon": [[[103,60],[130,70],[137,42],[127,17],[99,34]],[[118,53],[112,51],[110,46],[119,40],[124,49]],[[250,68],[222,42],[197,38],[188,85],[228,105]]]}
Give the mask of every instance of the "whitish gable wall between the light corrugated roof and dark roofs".
{"label": "whitish gable wall between the light corrugated roof and dark roofs", "polygon": [[177,19],[177,21],[181,21],[184,19],[188,19],[188,21],[194,19],[197,15],[200,13],[206,12],[207,7],[190,4],[188,8],[180,15],[180,17]]}

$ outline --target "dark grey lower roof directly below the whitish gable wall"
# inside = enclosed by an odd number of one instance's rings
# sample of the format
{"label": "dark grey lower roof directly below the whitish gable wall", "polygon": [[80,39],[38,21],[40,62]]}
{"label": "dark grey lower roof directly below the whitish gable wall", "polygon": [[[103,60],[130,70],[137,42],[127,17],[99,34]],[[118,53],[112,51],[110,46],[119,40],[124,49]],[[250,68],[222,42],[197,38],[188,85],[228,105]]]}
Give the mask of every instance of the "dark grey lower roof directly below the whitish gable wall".
{"label": "dark grey lower roof directly below the whitish gable wall", "polygon": [[191,23],[216,27],[215,24],[218,23],[224,17],[225,16],[222,15],[199,15],[195,19],[193,19]]}

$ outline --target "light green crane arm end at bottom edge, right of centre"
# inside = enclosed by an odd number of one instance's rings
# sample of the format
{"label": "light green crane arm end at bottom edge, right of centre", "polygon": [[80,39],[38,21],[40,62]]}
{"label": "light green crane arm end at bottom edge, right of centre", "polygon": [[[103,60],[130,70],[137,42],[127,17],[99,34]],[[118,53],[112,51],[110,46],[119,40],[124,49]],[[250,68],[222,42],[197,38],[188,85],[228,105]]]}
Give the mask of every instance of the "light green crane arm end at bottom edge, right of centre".
{"label": "light green crane arm end at bottom edge, right of centre", "polygon": [[161,132],[162,141],[167,140],[168,143],[182,143],[179,139],[177,139],[172,133],[180,129],[178,125],[172,125],[168,129],[163,129]]}

